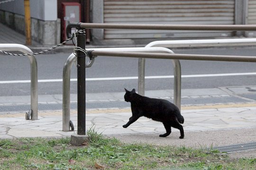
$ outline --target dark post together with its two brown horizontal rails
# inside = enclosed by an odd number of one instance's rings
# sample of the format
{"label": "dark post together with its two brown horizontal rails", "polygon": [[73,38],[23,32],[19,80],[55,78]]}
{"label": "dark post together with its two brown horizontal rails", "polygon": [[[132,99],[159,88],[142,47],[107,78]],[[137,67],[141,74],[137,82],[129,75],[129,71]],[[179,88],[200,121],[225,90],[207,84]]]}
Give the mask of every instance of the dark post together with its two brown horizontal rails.
{"label": "dark post together with its two brown horizontal rails", "polygon": [[[256,31],[256,25],[149,25],[149,24],[101,24],[101,23],[71,23],[66,28],[67,37],[72,37],[71,29],[78,29],[77,47],[77,135],[85,135],[85,57],[93,59],[95,56],[134,57],[151,59],[188,59],[188,60],[214,60],[214,61],[241,61],[256,62],[253,56],[227,56],[227,55],[193,55],[193,54],[161,54],[148,52],[110,52],[86,51],[85,29],[147,29],[147,30],[200,30],[200,31]],[[139,56],[139,57],[138,57]]]}

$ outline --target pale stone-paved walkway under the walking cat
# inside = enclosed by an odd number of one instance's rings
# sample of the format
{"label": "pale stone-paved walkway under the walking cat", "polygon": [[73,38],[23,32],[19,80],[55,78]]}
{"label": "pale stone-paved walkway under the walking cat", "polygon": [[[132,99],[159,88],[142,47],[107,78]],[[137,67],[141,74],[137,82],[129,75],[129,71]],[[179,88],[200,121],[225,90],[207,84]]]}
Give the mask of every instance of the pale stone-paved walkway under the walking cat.
{"label": "pale stone-paved walkway under the walking cat", "polygon": [[[134,136],[149,135],[153,136],[159,142],[163,140],[176,141],[178,144],[184,144],[184,141],[190,142],[189,145],[209,145],[209,144],[230,144],[245,143],[256,141],[256,103],[228,104],[228,105],[209,105],[209,106],[185,106],[182,107],[182,115],[185,118],[184,131],[185,139],[179,139],[179,131],[173,128],[173,133],[165,139],[158,135],[165,132],[161,122],[156,122],[147,118],[140,118],[137,122],[128,128],[123,128],[131,116],[130,109],[106,109],[106,110],[87,110],[86,128],[95,127],[99,133],[106,136]],[[62,131],[62,111],[61,110],[41,110],[38,113],[38,120],[25,120],[25,113],[13,112],[9,114],[0,114],[0,138],[17,137],[61,137],[71,136],[76,131]],[[71,120],[77,129],[76,110],[71,110]],[[187,135],[190,133],[205,134],[214,132],[223,134],[227,131],[241,131],[242,136],[237,134],[235,140],[228,138],[219,138],[211,136],[201,140],[200,143],[192,142]],[[252,131],[252,133],[248,133]],[[245,137],[246,136],[246,137]],[[203,136],[201,136],[203,137]],[[232,137],[232,138],[233,138]],[[222,142],[221,142],[222,141]],[[223,142],[224,141],[224,142]],[[159,142],[160,144],[161,142]]]}

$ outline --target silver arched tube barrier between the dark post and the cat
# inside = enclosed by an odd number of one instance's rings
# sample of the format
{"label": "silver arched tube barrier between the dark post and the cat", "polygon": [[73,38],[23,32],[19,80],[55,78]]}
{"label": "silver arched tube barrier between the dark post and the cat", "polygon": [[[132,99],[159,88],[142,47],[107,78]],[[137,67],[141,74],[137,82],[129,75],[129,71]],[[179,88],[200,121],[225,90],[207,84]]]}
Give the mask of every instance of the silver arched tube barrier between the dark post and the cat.
{"label": "silver arched tube barrier between the dark post and the cat", "polygon": [[[87,49],[87,50],[97,50],[97,51],[137,51],[139,52],[150,52],[150,53],[174,53],[170,49],[163,48],[163,47],[135,47],[135,48],[99,48],[99,49]],[[69,131],[70,130],[70,72],[72,68],[73,60],[75,59],[75,55],[72,53],[65,61],[64,68],[63,68],[63,131]],[[137,57],[138,58],[138,57]],[[181,77],[181,69],[179,62],[173,62],[174,64],[174,84],[178,84],[174,87],[174,104],[176,104],[179,109],[181,107],[181,95],[176,94],[175,91],[181,90],[181,85],[176,83],[176,79],[180,79]],[[141,76],[139,76],[141,77]],[[181,92],[179,92],[181,94]]]}

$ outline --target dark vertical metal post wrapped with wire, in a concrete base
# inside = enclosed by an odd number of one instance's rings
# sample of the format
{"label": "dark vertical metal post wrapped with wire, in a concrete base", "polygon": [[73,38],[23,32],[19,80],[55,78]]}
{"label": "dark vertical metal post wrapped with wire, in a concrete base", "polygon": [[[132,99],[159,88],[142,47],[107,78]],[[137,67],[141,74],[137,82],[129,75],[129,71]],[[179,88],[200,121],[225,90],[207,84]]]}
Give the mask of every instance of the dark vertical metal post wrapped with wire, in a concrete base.
{"label": "dark vertical metal post wrapped with wire, in a concrete base", "polygon": [[[78,31],[77,46],[85,49],[85,34]],[[85,54],[77,51],[77,135],[85,135]]]}

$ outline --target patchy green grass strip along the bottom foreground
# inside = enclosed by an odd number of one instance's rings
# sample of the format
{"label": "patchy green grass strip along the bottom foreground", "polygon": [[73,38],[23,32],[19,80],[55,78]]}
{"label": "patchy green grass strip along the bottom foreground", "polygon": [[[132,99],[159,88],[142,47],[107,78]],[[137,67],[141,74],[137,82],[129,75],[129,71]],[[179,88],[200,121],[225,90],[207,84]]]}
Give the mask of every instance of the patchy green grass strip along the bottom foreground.
{"label": "patchy green grass strip along the bottom foreground", "polygon": [[10,170],[255,170],[256,159],[230,159],[216,150],[123,144],[88,130],[91,141],[70,138],[0,140],[0,169]]}

